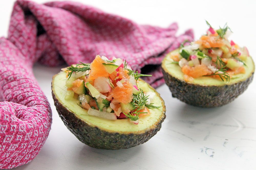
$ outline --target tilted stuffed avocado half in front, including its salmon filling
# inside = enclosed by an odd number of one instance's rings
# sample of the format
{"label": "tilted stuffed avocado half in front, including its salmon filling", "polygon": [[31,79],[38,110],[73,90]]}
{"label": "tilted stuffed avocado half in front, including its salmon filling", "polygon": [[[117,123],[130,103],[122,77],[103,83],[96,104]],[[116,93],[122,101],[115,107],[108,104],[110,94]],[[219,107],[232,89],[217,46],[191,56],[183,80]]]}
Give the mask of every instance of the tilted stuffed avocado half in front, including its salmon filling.
{"label": "tilted stuffed avocado half in front, including its salmon filling", "polygon": [[71,65],[52,80],[52,97],[64,124],[83,143],[126,149],[148,141],[161,128],[160,95],[120,58],[97,55]]}

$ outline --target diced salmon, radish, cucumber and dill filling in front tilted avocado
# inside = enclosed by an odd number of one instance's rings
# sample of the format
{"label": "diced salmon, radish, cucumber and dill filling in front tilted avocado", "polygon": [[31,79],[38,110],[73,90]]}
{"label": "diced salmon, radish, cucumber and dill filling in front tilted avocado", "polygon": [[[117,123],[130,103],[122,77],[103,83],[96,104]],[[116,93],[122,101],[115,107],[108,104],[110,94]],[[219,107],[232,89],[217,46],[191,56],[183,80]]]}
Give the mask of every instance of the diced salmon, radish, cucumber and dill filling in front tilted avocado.
{"label": "diced salmon, radish, cucumber and dill filling in front tilted avocado", "polygon": [[89,115],[109,120],[129,118],[138,124],[141,116],[150,114],[149,109],[161,107],[153,105],[155,93],[147,83],[137,85],[141,76],[151,75],[133,71],[120,58],[97,55],[92,63],[80,62],[62,70],[67,73],[65,99],[76,98]]}

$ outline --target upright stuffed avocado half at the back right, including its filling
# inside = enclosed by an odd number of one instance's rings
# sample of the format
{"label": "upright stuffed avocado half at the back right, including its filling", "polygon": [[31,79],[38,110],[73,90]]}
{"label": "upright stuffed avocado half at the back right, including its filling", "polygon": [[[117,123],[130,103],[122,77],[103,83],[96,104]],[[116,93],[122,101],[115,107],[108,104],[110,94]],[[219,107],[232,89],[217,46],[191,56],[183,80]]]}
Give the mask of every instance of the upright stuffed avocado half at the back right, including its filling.
{"label": "upright stuffed avocado half at the back right, including its filling", "polygon": [[214,30],[166,55],[164,79],[172,96],[199,107],[218,107],[237,98],[252,82],[254,63],[246,47],[228,41],[230,28]]}

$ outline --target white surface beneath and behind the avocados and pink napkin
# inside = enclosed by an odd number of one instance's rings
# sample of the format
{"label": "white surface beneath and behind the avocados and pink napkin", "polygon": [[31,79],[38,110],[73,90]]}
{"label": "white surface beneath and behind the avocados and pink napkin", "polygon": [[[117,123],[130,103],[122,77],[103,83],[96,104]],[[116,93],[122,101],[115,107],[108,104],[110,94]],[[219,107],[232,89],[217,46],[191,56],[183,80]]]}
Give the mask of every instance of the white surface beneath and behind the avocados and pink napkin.
{"label": "white surface beneath and behind the avocados and pink napkin", "polygon": [[[12,1],[0,2],[1,35],[6,36]],[[45,2],[45,1],[38,1]],[[81,1],[83,2],[83,1]],[[167,27],[178,21],[182,33],[205,33],[207,19],[218,27],[228,22],[231,39],[247,46],[254,60],[255,1],[84,1],[140,24]],[[40,64],[35,76],[52,108],[49,137],[38,156],[21,169],[256,169],[256,80],[232,103],[202,109],[176,98],[166,85],[157,88],[166,102],[166,119],[148,142],[130,149],[99,150],[81,143],[59,118],[51,97],[51,77],[59,68]]]}

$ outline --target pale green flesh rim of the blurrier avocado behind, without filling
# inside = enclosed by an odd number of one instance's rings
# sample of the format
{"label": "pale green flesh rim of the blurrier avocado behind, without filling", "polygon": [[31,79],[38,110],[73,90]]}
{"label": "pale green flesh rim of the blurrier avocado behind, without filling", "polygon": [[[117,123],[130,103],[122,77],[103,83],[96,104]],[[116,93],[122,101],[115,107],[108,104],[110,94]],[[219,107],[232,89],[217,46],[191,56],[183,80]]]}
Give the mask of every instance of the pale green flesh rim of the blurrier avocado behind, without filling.
{"label": "pale green flesh rim of the blurrier avocado behind, without filling", "polygon": [[[175,54],[175,53],[179,53],[179,49],[168,53],[163,60],[162,66],[165,68],[167,73],[176,77],[177,79],[183,80],[184,73],[181,71],[180,66],[175,63],[171,64],[173,60],[170,58],[170,55]],[[222,86],[222,85],[229,85],[229,84],[234,84],[234,83],[238,83],[241,81],[245,81],[254,72],[254,63],[253,63],[252,58],[248,57],[247,60],[245,61],[245,64],[247,66],[243,66],[243,67],[245,68],[246,73],[233,75],[229,82],[222,81],[222,80],[216,79],[214,77],[201,76],[198,78],[194,78],[194,81],[192,83],[198,84],[198,85],[205,85],[205,86],[209,86],[209,85],[210,86]]]}

